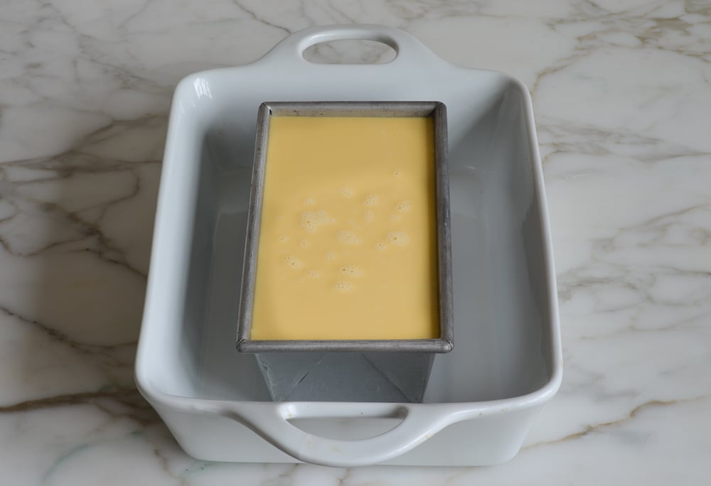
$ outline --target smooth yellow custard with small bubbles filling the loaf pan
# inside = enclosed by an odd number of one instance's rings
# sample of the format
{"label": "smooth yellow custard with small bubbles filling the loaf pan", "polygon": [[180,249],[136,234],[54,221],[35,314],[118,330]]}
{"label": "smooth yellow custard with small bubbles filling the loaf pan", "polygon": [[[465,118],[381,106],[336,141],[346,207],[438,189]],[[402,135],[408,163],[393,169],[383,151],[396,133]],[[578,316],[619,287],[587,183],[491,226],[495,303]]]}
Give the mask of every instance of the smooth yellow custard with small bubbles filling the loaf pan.
{"label": "smooth yellow custard with small bubbles filling the loaf pan", "polygon": [[250,338],[439,338],[432,119],[269,123]]}

